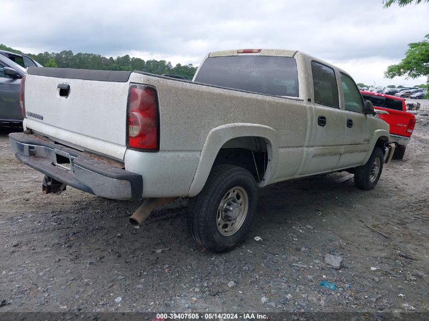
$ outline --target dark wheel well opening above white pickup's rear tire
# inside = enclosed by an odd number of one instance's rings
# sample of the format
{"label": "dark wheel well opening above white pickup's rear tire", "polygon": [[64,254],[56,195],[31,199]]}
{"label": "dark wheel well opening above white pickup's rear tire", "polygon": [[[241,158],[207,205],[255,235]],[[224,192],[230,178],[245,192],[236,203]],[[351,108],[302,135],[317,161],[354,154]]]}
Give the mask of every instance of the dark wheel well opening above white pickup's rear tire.
{"label": "dark wheel well opening above white pickup's rear tire", "polygon": [[265,180],[268,163],[272,160],[268,155],[269,142],[262,137],[244,136],[228,140],[223,144],[213,166],[229,164],[247,169],[255,177],[256,182]]}

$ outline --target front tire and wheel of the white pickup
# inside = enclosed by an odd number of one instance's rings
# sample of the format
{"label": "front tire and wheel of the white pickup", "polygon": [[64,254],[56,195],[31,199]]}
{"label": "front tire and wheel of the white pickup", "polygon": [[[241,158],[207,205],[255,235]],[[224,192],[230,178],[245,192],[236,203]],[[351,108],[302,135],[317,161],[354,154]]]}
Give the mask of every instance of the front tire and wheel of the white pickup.
{"label": "front tire and wheel of the white pickup", "polygon": [[383,170],[384,155],[380,148],[374,148],[370,159],[365,165],[356,167],[354,185],[361,190],[372,190],[380,179]]}

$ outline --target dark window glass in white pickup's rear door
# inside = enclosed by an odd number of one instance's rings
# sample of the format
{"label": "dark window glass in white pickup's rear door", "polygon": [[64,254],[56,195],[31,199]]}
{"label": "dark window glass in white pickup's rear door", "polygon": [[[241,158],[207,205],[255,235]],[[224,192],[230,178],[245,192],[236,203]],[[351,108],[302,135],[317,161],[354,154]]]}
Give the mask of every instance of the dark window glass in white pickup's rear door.
{"label": "dark window glass in white pickup's rear door", "polygon": [[312,61],[311,72],[313,74],[314,102],[340,108],[334,69]]}

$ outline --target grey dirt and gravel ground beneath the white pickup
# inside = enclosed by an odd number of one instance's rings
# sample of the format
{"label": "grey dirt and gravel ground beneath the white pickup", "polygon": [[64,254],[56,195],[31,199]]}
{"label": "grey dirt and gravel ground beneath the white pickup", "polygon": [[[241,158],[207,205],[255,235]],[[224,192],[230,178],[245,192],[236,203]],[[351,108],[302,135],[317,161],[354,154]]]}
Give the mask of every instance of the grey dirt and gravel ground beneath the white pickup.
{"label": "grey dirt and gravel ground beneath the white pickup", "polygon": [[428,312],[428,129],[417,124],[372,191],[346,172],[260,189],[248,237],[224,254],[192,241],[185,199],[136,230],[127,219],[141,201],[43,195],[43,175],[15,158],[3,129],[0,312]]}

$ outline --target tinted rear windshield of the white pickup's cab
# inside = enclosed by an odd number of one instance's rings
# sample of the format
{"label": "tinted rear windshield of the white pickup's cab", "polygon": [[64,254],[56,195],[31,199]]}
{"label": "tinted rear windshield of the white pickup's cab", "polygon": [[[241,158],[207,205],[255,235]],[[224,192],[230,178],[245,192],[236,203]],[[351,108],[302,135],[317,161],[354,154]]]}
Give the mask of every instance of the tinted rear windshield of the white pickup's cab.
{"label": "tinted rear windshield of the white pickup's cab", "polygon": [[195,82],[276,96],[299,96],[298,70],[292,57],[209,57]]}

